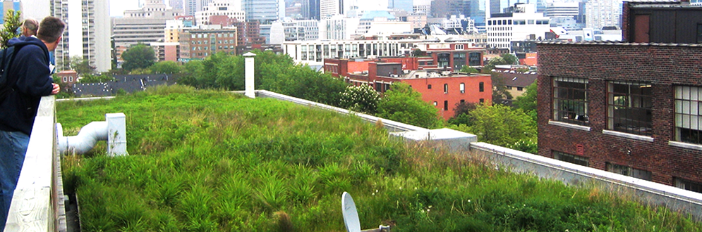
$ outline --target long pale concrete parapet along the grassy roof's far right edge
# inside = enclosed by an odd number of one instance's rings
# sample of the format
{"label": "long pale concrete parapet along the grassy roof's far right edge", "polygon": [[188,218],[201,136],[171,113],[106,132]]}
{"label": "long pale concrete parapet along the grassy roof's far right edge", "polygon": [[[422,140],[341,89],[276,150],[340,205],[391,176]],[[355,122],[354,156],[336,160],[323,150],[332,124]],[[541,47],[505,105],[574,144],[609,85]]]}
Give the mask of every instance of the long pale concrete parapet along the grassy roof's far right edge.
{"label": "long pale concrete parapet along the grassy roof's far right edge", "polygon": [[489,143],[478,143],[477,136],[452,129],[415,127],[270,91],[257,91],[257,96],[277,98],[282,101],[353,114],[368,122],[382,120],[392,136],[404,138],[406,141],[430,141],[435,146],[448,146],[447,148],[454,153],[469,152],[472,155],[483,156],[497,167],[505,167],[512,172],[535,174],[541,178],[562,181],[568,185],[581,186],[593,183],[609,191],[631,195],[644,204],[662,205],[672,211],[690,214],[696,220],[702,221],[702,193],[575,165]]}

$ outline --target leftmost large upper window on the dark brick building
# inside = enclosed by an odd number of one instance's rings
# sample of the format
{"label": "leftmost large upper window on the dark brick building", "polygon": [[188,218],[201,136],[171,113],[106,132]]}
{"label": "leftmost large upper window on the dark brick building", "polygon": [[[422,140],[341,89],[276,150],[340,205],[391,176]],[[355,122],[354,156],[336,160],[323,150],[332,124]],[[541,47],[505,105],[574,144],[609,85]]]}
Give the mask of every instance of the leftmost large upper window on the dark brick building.
{"label": "leftmost large upper window on the dark brick building", "polygon": [[587,126],[588,79],[553,78],[553,120]]}

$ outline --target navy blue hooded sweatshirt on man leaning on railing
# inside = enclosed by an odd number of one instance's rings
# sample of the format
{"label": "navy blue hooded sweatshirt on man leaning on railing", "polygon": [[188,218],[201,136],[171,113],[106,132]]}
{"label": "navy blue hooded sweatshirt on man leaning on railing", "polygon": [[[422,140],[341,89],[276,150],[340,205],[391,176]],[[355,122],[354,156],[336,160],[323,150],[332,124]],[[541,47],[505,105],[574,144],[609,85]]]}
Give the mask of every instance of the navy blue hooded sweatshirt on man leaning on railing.
{"label": "navy blue hooded sweatshirt on man leaning on railing", "polygon": [[36,37],[10,39],[9,45],[22,46],[10,64],[8,77],[16,77],[13,92],[0,103],[0,130],[32,134],[34,118],[42,96],[54,89],[49,70],[49,51]]}

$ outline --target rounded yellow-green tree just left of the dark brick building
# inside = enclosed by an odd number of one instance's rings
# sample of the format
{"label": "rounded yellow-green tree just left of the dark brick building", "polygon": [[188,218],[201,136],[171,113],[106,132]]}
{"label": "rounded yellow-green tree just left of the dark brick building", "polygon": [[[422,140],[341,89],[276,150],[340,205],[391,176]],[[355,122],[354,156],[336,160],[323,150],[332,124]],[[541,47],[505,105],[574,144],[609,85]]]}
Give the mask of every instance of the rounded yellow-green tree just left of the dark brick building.
{"label": "rounded yellow-green tree just left of the dark brick building", "polygon": [[481,104],[469,116],[466,132],[476,134],[478,141],[511,146],[517,141],[536,136],[535,123],[521,109]]}

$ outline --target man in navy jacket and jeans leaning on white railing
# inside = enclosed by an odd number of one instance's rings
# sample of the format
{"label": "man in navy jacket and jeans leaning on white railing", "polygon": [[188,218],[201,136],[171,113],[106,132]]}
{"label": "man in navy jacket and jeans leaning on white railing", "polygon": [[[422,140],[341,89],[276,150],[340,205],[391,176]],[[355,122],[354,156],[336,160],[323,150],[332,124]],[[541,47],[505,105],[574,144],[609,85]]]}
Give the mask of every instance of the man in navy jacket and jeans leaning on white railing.
{"label": "man in navy jacket and jeans leaning on white railing", "polygon": [[47,17],[40,23],[37,37],[9,41],[16,56],[6,72],[17,82],[0,103],[0,231],[5,227],[40,99],[59,93],[49,69],[49,51],[59,45],[64,27],[59,18]]}

